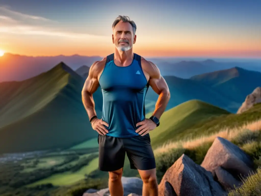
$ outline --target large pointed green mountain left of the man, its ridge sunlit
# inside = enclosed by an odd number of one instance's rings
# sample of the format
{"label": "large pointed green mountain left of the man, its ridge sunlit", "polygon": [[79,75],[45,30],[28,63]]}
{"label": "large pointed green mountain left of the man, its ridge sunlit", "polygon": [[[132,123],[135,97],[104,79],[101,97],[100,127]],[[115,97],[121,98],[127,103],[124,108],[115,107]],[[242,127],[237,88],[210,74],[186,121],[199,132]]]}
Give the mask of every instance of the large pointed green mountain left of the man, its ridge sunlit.
{"label": "large pointed green mountain left of the man, its ridge sunlit", "polygon": [[81,100],[83,84],[63,62],[36,77],[1,83],[0,153],[68,148],[96,137]]}

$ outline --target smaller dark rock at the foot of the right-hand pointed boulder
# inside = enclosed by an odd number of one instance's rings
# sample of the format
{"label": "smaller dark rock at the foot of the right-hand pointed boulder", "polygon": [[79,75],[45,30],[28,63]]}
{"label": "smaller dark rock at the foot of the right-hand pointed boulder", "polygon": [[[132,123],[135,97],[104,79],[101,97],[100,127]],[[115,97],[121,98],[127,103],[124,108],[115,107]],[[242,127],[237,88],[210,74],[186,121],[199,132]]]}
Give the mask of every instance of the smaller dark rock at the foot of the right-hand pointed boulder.
{"label": "smaller dark rock at the foot of the right-hand pointed boulder", "polygon": [[226,189],[226,191],[235,189],[234,186],[239,187],[242,185],[242,182],[236,180],[233,175],[231,175],[228,171],[224,170],[220,166],[215,169],[215,173],[218,181]]}

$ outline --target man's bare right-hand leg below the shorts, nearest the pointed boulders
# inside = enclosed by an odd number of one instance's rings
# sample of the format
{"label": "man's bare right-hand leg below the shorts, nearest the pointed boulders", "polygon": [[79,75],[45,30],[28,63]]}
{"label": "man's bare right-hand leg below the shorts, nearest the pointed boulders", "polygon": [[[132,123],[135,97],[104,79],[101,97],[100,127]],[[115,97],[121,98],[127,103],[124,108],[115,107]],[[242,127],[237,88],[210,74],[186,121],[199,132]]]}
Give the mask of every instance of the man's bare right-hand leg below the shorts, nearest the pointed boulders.
{"label": "man's bare right-hand leg below the shorts, nearest the pointed boulders", "polygon": [[142,196],[158,196],[156,168],[138,171],[143,181]]}

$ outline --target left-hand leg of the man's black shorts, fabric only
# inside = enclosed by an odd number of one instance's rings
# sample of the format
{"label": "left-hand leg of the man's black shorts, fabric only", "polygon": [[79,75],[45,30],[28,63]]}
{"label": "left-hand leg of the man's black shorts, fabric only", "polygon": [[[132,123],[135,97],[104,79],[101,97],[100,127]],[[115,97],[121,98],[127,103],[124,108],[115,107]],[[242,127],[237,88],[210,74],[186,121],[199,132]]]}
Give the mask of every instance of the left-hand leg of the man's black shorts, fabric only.
{"label": "left-hand leg of the man's black shorts, fabric only", "polygon": [[116,171],[123,167],[125,150],[122,138],[98,135],[99,170]]}

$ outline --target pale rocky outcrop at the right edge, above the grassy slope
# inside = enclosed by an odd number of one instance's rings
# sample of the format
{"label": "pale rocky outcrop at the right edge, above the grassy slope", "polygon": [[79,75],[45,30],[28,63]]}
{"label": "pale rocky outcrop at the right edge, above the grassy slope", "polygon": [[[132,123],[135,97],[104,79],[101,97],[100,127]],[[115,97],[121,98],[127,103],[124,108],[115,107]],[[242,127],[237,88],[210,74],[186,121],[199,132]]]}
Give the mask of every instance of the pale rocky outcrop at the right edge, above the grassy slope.
{"label": "pale rocky outcrop at the right edge, above the grassy slope", "polygon": [[251,94],[247,95],[245,101],[238,109],[237,114],[247,111],[256,103],[261,103],[261,87],[257,87]]}

